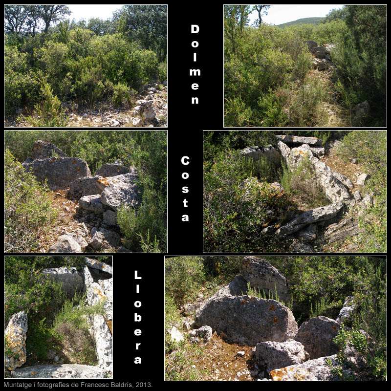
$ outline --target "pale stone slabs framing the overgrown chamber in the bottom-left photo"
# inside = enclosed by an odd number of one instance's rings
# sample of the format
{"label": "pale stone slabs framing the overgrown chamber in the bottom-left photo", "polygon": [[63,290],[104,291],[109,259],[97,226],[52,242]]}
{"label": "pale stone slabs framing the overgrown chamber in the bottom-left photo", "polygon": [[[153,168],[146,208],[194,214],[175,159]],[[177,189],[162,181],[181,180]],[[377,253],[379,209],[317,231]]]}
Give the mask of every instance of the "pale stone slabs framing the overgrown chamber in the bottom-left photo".
{"label": "pale stone slabs framing the overgrown chamber in the bottom-left photo", "polygon": [[[112,265],[91,258],[85,259],[83,271],[75,267],[43,269],[48,278],[60,282],[66,297],[73,298],[76,292],[86,293],[87,305],[104,302],[104,315],[88,315],[89,333],[95,342],[96,366],[64,364],[60,352],[49,351],[48,359],[53,364],[23,367],[26,362],[26,338],[28,319],[25,311],[12,315],[5,329],[7,350],[4,367],[12,378],[110,378],[112,377]],[[110,262],[111,263],[111,262]],[[5,325],[4,325],[5,326]],[[63,354],[66,357],[66,354]]]}

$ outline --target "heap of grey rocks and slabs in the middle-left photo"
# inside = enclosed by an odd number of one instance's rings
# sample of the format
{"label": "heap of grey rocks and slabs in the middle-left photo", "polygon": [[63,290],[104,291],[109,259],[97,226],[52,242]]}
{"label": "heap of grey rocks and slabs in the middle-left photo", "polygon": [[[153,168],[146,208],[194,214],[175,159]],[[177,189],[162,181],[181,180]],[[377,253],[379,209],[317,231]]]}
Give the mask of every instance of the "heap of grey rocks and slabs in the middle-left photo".
{"label": "heap of grey rocks and slabs in the middle-left photo", "polygon": [[134,167],[105,163],[92,176],[86,161],[68,157],[41,140],[34,143],[32,157],[22,166],[51,190],[66,190],[68,198],[78,200],[78,227],[65,228],[48,252],[130,252],[121,245],[117,211],[122,205],[136,208],[140,202]]}

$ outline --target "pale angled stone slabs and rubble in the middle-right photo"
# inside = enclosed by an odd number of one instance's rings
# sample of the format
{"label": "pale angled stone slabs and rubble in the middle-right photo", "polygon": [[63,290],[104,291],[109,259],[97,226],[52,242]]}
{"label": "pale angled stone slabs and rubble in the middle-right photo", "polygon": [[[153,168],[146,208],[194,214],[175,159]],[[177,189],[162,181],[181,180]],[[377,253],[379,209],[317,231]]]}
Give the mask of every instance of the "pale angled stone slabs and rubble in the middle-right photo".
{"label": "pale angled stone slabs and rubble in the middle-right photo", "polygon": [[[280,221],[275,221],[263,228],[262,233],[288,239],[292,252],[314,252],[311,243],[317,239],[322,239],[323,244],[331,244],[362,232],[357,217],[373,205],[372,196],[363,196],[360,192],[369,175],[362,173],[353,183],[345,175],[333,172],[320,160],[325,155],[325,148],[317,137],[276,135],[276,138],[277,148],[271,145],[265,148],[247,147],[241,154],[254,160],[263,157],[272,164],[279,164],[282,159],[290,171],[294,171],[307,158],[314,172],[314,181],[330,204],[295,213],[282,225]],[[275,182],[275,185],[283,192],[279,183]]]}

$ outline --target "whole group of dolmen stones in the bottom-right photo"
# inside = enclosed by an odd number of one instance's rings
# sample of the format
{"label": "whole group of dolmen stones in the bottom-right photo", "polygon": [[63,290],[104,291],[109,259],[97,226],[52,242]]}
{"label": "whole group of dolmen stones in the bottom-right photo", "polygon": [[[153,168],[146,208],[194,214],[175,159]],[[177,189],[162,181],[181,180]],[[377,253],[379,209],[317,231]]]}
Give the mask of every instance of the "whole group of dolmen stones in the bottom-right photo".
{"label": "whole group of dolmen stones in the bottom-right photo", "polygon": [[[260,258],[244,257],[241,273],[233,281],[211,298],[182,307],[182,312],[190,315],[183,321],[189,340],[205,344],[216,332],[230,343],[254,347],[254,380],[335,380],[331,367],[337,363],[338,348],[333,338],[353,312],[352,297],[346,299],[336,320],[318,316],[299,328],[284,304],[248,296],[248,283],[266,295],[277,292],[284,303],[290,300],[289,287],[279,270]],[[168,332],[173,341],[184,339],[175,326]],[[344,370],[354,375],[354,366],[362,360],[351,347],[349,362],[353,369]]]}

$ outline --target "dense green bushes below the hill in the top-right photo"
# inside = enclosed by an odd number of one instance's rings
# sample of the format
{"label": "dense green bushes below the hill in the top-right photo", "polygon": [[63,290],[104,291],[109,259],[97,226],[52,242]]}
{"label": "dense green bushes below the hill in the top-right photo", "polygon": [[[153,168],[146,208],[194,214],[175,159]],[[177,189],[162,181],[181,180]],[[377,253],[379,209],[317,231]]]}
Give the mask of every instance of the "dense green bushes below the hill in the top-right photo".
{"label": "dense green bushes below the hill in the top-right photo", "polygon": [[[347,5],[337,19],[284,28],[247,26],[249,6],[225,7],[225,126],[327,126],[322,102],[353,109],[365,100],[369,117],[356,125],[384,126],[385,6]],[[308,72],[307,40],[336,45],[331,60],[337,80],[327,87],[330,96]]]}

